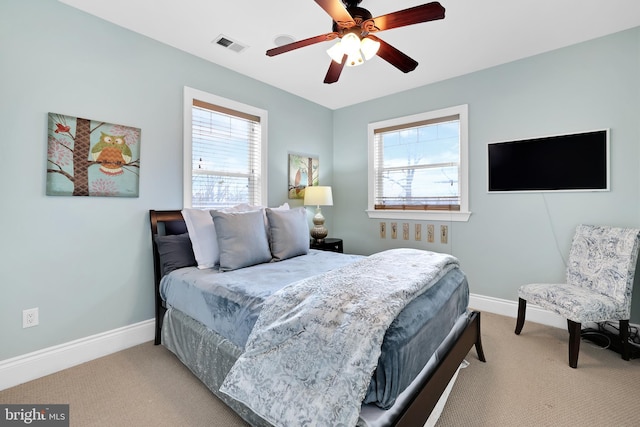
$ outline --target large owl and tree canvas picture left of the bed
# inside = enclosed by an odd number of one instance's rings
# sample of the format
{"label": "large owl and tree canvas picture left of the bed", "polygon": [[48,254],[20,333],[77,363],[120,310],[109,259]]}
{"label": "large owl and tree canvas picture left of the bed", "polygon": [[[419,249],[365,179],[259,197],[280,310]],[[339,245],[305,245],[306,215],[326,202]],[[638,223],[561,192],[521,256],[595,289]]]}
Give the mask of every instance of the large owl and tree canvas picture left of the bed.
{"label": "large owl and tree canvas picture left of the bed", "polygon": [[138,128],[49,113],[47,195],[138,197]]}

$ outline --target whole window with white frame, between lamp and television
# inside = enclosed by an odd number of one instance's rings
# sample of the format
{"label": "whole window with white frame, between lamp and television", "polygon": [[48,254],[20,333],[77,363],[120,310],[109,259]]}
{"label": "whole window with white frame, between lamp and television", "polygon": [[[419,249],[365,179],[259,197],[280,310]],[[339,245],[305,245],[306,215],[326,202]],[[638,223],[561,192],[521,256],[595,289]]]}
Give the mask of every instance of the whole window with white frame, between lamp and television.
{"label": "whole window with white frame, between lamp and television", "polygon": [[369,218],[467,221],[467,106],[369,124]]}

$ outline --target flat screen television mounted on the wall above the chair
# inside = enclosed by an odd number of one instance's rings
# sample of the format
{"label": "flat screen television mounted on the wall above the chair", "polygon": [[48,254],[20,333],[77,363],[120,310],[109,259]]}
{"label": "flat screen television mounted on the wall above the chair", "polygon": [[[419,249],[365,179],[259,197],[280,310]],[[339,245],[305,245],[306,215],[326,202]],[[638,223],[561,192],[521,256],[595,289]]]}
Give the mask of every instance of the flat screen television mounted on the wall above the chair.
{"label": "flat screen television mounted on the wall above the chair", "polygon": [[489,191],[609,190],[609,130],[488,144]]}

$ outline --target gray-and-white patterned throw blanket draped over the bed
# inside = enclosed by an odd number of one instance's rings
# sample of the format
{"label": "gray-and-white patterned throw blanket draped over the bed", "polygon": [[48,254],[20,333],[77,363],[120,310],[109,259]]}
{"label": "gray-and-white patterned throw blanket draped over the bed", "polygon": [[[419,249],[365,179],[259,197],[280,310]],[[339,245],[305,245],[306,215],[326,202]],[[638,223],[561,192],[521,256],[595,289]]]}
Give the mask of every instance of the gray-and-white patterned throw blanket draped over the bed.
{"label": "gray-and-white patterned throw blanket draped over the bed", "polygon": [[275,426],[355,426],[385,332],[451,255],[392,249],[269,297],[220,391]]}

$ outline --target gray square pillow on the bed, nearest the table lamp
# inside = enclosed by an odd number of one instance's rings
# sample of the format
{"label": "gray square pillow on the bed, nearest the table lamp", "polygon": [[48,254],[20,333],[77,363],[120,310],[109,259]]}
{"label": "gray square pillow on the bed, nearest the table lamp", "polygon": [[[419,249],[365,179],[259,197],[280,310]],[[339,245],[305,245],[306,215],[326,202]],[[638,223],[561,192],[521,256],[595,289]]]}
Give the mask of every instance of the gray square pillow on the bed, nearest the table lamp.
{"label": "gray square pillow on the bed, nearest the table lamp", "polygon": [[276,261],[309,252],[309,223],[305,208],[266,209],[269,220],[271,255]]}

